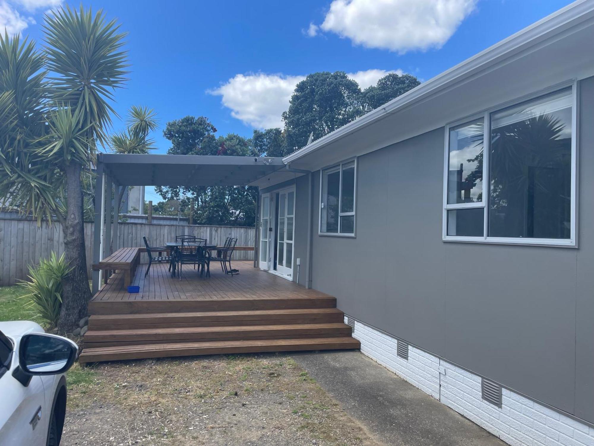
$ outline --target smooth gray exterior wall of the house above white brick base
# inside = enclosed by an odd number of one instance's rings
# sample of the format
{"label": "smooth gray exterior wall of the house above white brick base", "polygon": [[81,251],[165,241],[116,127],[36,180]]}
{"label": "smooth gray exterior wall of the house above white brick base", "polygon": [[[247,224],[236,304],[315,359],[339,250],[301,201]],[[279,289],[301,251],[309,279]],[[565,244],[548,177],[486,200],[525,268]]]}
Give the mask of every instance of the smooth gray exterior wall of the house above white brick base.
{"label": "smooth gray exterior wall of the house above white brick base", "polygon": [[[359,157],[356,238],[318,235],[315,172],[313,288],[362,322],[594,422],[594,78],[580,82],[579,102],[579,249],[441,240],[438,128]],[[307,215],[307,183],[296,196]],[[296,231],[304,259],[307,226]]]}

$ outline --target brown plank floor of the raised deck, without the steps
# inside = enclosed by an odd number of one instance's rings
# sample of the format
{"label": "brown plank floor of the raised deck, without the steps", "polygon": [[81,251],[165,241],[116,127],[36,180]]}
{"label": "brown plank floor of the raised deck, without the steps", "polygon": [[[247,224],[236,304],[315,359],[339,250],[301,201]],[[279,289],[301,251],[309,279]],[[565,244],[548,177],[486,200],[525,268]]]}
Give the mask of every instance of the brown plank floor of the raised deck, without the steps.
{"label": "brown plank floor of the raised deck, without the steps", "polygon": [[140,293],[128,293],[124,278],[117,273],[91,301],[179,300],[179,299],[295,299],[328,298],[328,294],[308,290],[282,277],[254,268],[251,260],[235,260],[238,275],[224,274],[219,265],[211,265],[210,278],[200,278],[192,265],[183,265],[182,279],[172,278],[166,263],[153,263],[144,277],[147,265],[139,265],[132,285],[140,286]]}

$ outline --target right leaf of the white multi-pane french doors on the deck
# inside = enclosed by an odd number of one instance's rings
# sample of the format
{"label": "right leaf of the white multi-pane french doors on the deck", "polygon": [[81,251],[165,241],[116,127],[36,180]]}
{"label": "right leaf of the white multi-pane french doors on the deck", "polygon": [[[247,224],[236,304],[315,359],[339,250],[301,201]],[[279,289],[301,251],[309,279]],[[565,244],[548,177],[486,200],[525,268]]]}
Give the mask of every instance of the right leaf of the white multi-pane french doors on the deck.
{"label": "right leaf of the white multi-pane french doors on the deck", "polygon": [[295,189],[278,193],[278,215],[276,218],[276,272],[292,279],[293,239],[295,230]]}

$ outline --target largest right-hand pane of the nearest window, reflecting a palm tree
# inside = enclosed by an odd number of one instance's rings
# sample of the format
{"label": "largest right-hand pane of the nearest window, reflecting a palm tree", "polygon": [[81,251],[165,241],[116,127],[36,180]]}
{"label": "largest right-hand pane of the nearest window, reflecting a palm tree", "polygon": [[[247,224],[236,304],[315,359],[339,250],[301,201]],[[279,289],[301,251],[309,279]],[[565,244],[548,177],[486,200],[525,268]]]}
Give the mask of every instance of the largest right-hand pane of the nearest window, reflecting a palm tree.
{"label": "largest right-hand pane of the nearest window, reflecting a palm tree", "polygon": [[491,115],[489,236],[571,237],[571,89]]}

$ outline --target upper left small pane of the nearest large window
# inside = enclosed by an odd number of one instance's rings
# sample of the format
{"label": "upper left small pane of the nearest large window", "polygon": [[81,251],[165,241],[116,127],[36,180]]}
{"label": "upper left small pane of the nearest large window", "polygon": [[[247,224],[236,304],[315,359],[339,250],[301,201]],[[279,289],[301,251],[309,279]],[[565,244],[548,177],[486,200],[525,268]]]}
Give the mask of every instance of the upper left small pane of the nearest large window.
{"label": "upper left small pane of the nearest large window", "polygon": [[483,120],[450,128],[448,204],[482,202]]}

